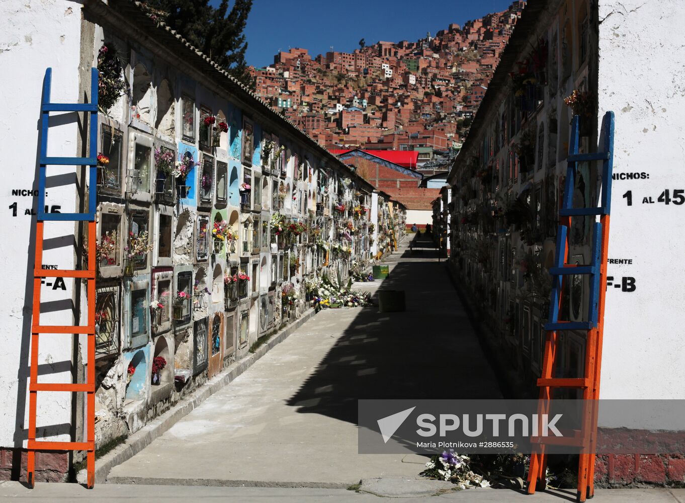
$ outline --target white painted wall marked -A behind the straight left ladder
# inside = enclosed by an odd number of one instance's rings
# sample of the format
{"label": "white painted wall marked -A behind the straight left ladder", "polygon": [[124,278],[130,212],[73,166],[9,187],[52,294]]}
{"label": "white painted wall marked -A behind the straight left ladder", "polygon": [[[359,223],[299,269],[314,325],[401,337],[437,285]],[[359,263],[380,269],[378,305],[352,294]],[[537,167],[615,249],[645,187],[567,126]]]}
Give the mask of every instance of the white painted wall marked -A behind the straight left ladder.
{"label": "white painted wall marked -A behind the straight left ladder", "polygon": [[[32,314],[34,219],[24,212],[36,208],[37,197],[12,195],[12,189],[32,189],[37,171],[38,129],[43,76],[47,66],[53,72],[52,100],[78,100],[79,38],[81,4],[69,0],[23,0],[0,3],[0,151],[5,157],[3,188],[0,190],[0,271],[3,275],[3,309],[0,310],[0,445],[18,446],[28,426],[27,389],[29,338]],[[58,115],[58,114],[53,114]],[[75,124],[51,127],[49,155],[75,156]],[[69,169],[49,168],[49,175],[68,173]],[[37,181],[36,181],[37,184]],[[11,204],[17,204],[12,217]],[[46,204],[60,205],[61,212],[74,210],[73,186],[48,189]],[[73,235],[73,223],[46,223],[45,238]],[[67,240],[69,241],[69,240]],[[58,247],[45,253],[44,264],[73,269],[73,247]],[[27,284],[28,281],[28,284]],[[53,282],[52,279],[46,282]],[[71,302],[72,284],[65,280],[66,290],[44,286],[42,302]],[[26,294],[29,293],[27,298]],[[53,304],[54,306],[54,304]],[[58,310],[41,315],[41,323],[71,325],[71,310]],[[71,336],[40,336],[39,363],[48,364],[45,373],[69,369]],[[60,362],[67,362],[66,365]],[[42,371],[43,373],[43,371]],[[19,376],[19,378],[18,378]],[[69,373],[51,373],[40,382],[68,382]],[[20,384],[21,381],[21,384]],[[27,395],[27,393],[26,393]],[[18,404],[25,403],[25,410]],[[69,424],[69,393],[38,393],[38,430],[42,426]],[[18,419],[16,419],[18,417]],[[18,425],[16,424],[18,422]],[[68,437],[43,437],[62,439]],[[25,445],[25,442],[23,443]]]}

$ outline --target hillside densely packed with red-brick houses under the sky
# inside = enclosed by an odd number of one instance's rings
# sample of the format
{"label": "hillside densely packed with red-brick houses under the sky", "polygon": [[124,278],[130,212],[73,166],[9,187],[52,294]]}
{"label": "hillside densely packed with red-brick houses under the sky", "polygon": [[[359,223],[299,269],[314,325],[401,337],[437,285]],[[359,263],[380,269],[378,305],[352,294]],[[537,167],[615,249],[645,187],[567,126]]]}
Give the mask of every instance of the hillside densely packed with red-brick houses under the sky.
{"label": "hillside densely packed with red-brick houses under the sky", "polygon": [[325,147],[419,149],[421,167],[461,145],[524,5],[415,42],[282,51],[251,68],[256,94]]}

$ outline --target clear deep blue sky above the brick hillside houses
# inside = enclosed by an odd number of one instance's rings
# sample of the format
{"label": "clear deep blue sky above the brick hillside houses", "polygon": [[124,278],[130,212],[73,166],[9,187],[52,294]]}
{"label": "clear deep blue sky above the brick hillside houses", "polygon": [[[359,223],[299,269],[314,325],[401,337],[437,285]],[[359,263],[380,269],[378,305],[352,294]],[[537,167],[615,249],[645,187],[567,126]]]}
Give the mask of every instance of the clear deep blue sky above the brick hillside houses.
{"label": "clear deep blue sky above the brick hillside houses", "polygon": [[[219,0],[210,0],[217,5]],[[265,66],[288,47],[309,49],[314,58],[330,50],[351,52],[361,38],[417,40],[449,23],[505,10],[510,0],[254,0],[247,20],[247,63]]]}

